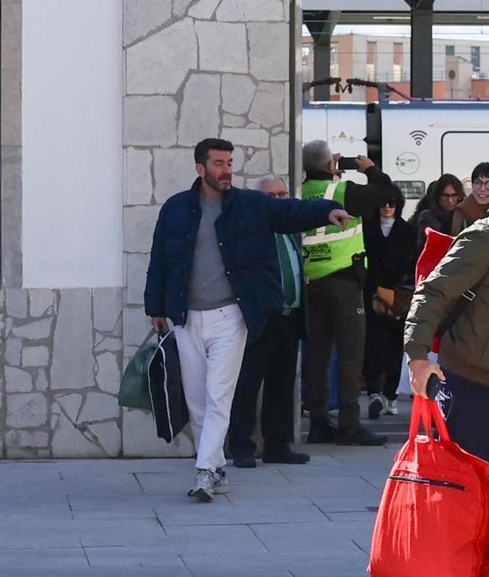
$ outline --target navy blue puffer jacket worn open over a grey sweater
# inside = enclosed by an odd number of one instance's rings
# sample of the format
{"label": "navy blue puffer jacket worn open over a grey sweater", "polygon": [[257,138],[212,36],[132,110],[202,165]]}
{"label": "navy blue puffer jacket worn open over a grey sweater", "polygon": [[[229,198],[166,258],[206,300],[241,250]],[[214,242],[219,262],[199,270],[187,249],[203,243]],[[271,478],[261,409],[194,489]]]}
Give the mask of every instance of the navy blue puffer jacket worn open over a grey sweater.
{"label": "navy blue puffer jacket worn open over a grey sweater", "polygon": [[[200,179],[190,190],[172,196],[156,223],[144,291],[146,315],[169,317],[184,325],[195,239],[202,216]],[[279,200],[260,191],[235,187],[222,199],[215,222],[217,242],[250,340],[269,315],[283,308],[281,276],[274,233],[295,233],[322,227],[329,213],[342,208],[329,200]]]}

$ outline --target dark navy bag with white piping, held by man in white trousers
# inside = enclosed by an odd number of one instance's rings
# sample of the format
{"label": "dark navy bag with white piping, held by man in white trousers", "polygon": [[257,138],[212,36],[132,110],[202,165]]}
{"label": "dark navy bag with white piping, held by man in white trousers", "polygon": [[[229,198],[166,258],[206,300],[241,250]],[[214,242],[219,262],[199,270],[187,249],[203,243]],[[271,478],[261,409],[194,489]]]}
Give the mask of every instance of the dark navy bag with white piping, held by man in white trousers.
{"label": "dark navy bag with white piping, held by man in white trousers", "polygon": [[173,333],[158,335],[149,360],[149,395],[157,436],[171,443],[188,423],[180,359]]}

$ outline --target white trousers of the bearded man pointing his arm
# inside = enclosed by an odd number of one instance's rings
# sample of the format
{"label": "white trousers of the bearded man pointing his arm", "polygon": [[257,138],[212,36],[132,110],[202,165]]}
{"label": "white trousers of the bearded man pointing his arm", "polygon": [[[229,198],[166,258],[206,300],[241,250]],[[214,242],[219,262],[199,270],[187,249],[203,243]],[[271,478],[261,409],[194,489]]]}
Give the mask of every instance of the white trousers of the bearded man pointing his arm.
{"label": "white trousers of the bearded man pointing his arm", "polygon": [[175,326],[182,383],[199,469],[226,465],[224,440],[248,329],[237,304],[188,311]]}

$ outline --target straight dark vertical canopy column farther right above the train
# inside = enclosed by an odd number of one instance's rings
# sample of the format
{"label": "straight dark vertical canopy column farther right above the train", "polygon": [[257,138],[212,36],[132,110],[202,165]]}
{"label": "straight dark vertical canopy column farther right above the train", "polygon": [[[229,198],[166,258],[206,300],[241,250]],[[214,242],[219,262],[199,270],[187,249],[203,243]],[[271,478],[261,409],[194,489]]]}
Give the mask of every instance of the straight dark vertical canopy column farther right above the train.
{"label": "straight dark vertical canopy column farther right above the train", "polygon": [[406,0],[411,9],[411,96],[433,97],[433,1]]}

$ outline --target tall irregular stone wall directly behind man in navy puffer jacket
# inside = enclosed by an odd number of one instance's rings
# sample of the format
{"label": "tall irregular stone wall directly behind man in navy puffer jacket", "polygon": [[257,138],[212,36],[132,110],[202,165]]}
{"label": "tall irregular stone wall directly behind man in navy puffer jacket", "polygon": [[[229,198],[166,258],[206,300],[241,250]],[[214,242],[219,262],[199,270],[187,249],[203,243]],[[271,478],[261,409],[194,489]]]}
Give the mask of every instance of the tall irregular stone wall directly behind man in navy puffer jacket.
{"label": "tall irregular stone wall directly behind man in navy puffer jacket", "polygon": [[[146,335],[143,290],[161,205],[195,177],[193,149],[235,145],[233,182],[289,172],[289,3],[124,0],[124,362]],[[124,454],[188,454],[186,432],[153,443],[151,417],[123,417]],[[125,437],[139,428],[144,433]],[[154,439],[153,439],[154,440]]]}

